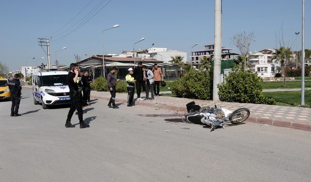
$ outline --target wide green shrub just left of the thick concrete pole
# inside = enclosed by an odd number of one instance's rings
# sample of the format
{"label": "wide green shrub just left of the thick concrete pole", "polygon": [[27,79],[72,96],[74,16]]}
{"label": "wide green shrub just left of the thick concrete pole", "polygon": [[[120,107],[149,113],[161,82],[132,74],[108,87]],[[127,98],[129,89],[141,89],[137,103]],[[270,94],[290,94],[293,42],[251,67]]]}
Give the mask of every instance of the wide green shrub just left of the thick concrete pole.
{"label": "wide green shrub just left of the thick concrete pole", "polygon": [[210,87],[211,78],[209,72],[190,69],[187,74],[171,84],[171,91],[177,97],[210,99]]}

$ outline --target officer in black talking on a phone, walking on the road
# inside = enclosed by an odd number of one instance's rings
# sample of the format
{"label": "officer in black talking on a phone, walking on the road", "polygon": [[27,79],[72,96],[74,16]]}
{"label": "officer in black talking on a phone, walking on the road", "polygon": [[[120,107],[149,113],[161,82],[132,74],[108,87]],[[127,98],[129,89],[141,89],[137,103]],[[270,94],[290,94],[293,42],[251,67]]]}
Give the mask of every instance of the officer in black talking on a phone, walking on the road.
{"label": "officer in black talking on a phone, walking on the road", "polygon": [[69,86],[69,97],[70,97],[70,110],[68,112],[65,127],[75,127],[70,123],[71,117],[75,110],[78,112],[80,128],[88,128],[89,125],[83,121],[83,110],[82,110],[82,89],[79,89],[77,80],[79,76],[79,67],[75,63],[70,64],[70,71],[67,75],[67,83]]}

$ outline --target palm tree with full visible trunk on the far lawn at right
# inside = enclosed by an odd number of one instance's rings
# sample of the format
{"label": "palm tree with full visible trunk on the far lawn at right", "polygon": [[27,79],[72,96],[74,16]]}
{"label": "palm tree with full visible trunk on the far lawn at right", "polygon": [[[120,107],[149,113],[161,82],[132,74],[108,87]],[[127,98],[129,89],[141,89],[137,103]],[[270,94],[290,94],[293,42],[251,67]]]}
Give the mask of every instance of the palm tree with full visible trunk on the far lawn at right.
{"label": "palm tree with full visible trunk on the far lawn at right", "polygon": [[286,72],[287,70],[292,66],[292,50],[291,48],[285,48],[284,46],[281,46],[279,49],[276,49],[276,52],[274,53],[273,59],[275,59],[275,62],[279,62],[281,66],[281,73],[283,75],[283,86],[285,86],[285,79],[286,79]]}

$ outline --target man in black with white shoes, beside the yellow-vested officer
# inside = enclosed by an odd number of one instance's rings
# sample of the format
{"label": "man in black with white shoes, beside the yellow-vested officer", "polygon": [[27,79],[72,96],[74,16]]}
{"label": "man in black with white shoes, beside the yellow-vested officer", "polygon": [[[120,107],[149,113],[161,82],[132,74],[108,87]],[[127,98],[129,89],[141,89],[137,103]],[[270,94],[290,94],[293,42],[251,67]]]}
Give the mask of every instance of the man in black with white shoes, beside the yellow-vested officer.
{"label": "man in black with white shoes, beside the yellow-vested officer", "polygon": [[144,71],[142,70],[142,62],[141,61],[138,61],[138,66],[135,67],[133,76],[134,76],[134,80],[136,80],[135,84],[136,84],[137,100],[142,100],[140,98],[141,87],[142,87],[142,90],[145,91],[145,88],[146,88],[145,84],[146,84],[146,82],[143,80],[143,78],[144,78]]}

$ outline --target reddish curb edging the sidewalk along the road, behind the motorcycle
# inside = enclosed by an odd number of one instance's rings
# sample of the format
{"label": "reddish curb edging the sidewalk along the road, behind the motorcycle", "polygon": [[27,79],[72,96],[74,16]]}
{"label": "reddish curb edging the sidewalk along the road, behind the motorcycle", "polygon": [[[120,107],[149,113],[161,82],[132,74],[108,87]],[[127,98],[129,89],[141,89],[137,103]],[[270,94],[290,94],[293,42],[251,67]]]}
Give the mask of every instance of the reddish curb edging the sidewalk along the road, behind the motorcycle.
{"label": "reddish curb edging the sidewalk along the road, behind the motorcycle", "polygon": [[[94,99],[104,99],[109,100],[110,97],[92,97]],[[126,99],[120,99],[116,98],[118,102],[126,103]],[[136,105],[143,105],[148,107],[157,107],[162,109],[168,109],[173,111],[181,111],[187,113],[186,106],[174,106],[174,105],[168,105],[168,104],[157,104],[155,102],[148,102],[148,101],[136,101]],[[298,130],[305,130],[305,131],[311,131],[311,125],[306,123],[299,123],[299,122],[293,122],[293,121],[286,121],[286,120],[278,120],[278,119],[269,119],[264,117],[258,117],[258,116],[249,116],[246,122],[251,123],[260,123],[260,124],[268,124],[278,127],[285,127],[285,128],[293,128]]]}

